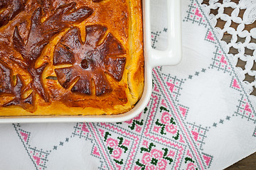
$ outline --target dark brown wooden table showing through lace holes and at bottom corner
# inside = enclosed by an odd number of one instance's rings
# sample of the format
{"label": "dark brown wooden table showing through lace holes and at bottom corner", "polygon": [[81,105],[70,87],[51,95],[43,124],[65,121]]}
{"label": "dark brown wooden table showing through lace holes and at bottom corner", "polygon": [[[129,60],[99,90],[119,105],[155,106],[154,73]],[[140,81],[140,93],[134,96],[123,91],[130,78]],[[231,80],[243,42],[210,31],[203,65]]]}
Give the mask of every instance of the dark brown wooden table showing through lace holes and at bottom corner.
{"label": "dark brown wooden table showing through lace holes and at bottom corner", "polygon": [[[208,5],[208,1],[209,0],[204,0],[203,4]],[[235,2],[236,4],[239,3],[239,0],[231,0],[231,1]],[[223,3],[223,0],[220,0],[218,2]],[[224,13],[226,13],[230,16],[232,11],[233,11],[233,8],[225,8]],[[214,15],[216,15],[218,13],[218,8],[210,10],[210,13],[213,13]],[[240,9],[239,16],[242,18],[244,13],[245,13],[245,9]],[[235,23],[235,22],[233,22],[231,24],[231,26],[233,28],[237,28],[238,25],[239,24]],[[225,21],[223,21],[219,18],[216,27],[223,29],[224,26],[225,26]],[[250,25],[245,25],[245,30],[250,31],[252,28],[256,28],[256,21]],[[228,43],[228,42],[230,42],[231,38],[232,38],[232,35],[225,32],[222,40],[224,40],[225,42]],[[244,42],[245,38],[238,38],[238,41]],[[251,41],[256,43],[256,39],[252,39]],[[253,52],[253,50],[245,49],[245,54],[247,54],[247,55],[252,55],[252,52]],[[234,47],[231,47],[230,51],[228,53],[235,55],[235,54],[238,54],[238,50],[236,50]],[[236,67],[245,69],[245,64],[246,64],[246,62],[243,62],[242,60],[238,60],[238,64],[236,65]],[[252,69],[256,70],[256,64],[254,64],[254,67],[252,67]],[[245,74],[244,81],[252,82],[252,81],[255,81],[255,78],[251,77],[249,74]],[[255,87],[250,95],[256,96],[256,88]],[[238,169],[240,169],[240,170],[256,170],[256,152],[254,154],[251,154],[249,157],[242,159],[240,162],[233,164],[232,166],[228,167],[225,170],[238,170]]]}

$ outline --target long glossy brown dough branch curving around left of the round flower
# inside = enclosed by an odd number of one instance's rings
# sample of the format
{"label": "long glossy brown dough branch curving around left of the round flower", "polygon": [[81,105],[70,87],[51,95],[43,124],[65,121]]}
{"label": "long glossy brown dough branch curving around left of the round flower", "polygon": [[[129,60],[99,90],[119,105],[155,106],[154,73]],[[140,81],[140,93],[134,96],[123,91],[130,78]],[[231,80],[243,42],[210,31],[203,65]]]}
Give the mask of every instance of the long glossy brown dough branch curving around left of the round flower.
{"label": "long glossy brown dough branch curving around left of the round flower", "polygon": [[46,68],[48,63],[44,62],[41,67],[36,69],[38,57],[41,56],[44,47],[48,45],[53,35],[68,28],[70,23],[78,23],[85,20],[91,13],[91,8],[82,7],[75,9],[75,3],[70,3],[57,8],[52,16],[41,23],[42,10],[39,7],[31,16],[31,29],[26,43],[22,40],[21,35],[19,35],[18,28],[15,28],[13,44],[15,49],[23,57],[23,60],[18,60],[15,57],[11,59],[17,62],[23,69],[28,70],[29,74],[31,74],[33,80],[28,85],[27,89],[33,89],[33,91],[39,94],[46,102],[48,102],[49,98],[46,89],[43,87],[42,74],[43,69]]}

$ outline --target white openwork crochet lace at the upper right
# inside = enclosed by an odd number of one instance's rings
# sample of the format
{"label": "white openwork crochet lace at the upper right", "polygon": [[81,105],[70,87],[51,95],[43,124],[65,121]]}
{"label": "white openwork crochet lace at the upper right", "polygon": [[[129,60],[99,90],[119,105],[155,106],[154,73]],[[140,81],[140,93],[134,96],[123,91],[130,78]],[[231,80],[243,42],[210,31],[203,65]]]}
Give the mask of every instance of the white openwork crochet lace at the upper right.
{"label": "white openwork crochet lace at the upper right", "polygon": [[256,1],[199,0],[247,94],[256,96]]}

